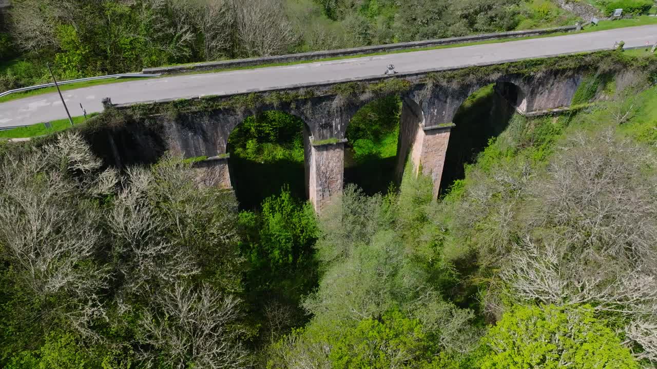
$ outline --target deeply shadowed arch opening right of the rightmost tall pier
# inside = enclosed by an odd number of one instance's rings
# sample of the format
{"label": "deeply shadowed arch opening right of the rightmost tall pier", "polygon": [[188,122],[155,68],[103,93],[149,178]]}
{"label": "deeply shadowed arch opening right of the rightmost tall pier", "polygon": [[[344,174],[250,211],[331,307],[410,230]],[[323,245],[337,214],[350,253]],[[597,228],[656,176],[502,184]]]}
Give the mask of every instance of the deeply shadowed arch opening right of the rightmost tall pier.
{"label": "deeply shadowed arch opening right of the rightmost tall pier", "polygon": [[465,177],[465,165],[474,163],[491,138],[499,136],[526,98],[515,83],[500,80],[471,93],[457,110],[445,154],[440,194]]}

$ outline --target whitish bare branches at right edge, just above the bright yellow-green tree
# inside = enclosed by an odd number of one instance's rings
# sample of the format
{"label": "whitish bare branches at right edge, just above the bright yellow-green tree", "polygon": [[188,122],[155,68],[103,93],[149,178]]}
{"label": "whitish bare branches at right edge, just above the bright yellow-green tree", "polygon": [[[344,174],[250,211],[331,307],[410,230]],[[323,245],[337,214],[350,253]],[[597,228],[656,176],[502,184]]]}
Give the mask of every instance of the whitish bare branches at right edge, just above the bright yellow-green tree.
{"label": "whitish bare branches at right edge, just above the bright yellow-green tree", "polygon": [[556,305],[590,303],[599,311],[628,316],[657,314],[657,278],[643,265],[618,265],[600,255],[572,255],[555,243],[539,246],[526,240],[511,254],[512,268],[501,272],[513,295],[525,301]]}

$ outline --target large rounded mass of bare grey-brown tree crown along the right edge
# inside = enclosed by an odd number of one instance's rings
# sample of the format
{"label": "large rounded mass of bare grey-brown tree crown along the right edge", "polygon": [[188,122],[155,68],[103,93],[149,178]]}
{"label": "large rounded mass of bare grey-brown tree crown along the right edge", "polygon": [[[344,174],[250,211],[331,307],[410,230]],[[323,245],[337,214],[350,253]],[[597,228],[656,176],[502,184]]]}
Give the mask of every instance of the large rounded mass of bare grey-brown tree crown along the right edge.
{"label": "large rounded mass of bare grey-brown tree crown along the right edge", "polygon": [[[572,137],[526,189],[524,235],[499,259],[522,302],[590,304],[632,322],[636,357],[654,360],[657,316],[657,186],[654,156],[613,131]],[[505,248],[501,248],[503,250]]]}

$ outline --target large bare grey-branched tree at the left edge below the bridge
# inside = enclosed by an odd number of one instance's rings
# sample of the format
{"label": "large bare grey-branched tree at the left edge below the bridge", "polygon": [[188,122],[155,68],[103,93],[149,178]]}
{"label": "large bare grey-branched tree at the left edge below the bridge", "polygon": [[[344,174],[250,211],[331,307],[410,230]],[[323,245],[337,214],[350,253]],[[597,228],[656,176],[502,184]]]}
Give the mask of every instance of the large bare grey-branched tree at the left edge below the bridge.
{"label": "large bare grey-branched tree at the left edge below the bridge", "polygon": [[101,291],[110,278],[97,259],[104,245],[101,214],[79,196],[113,185],[111,171],[102,173],[101,186],[93,180],[99,167],[89,147],[70,134],[0,163],[0,250],[40,304],[26,316],[36,315],[46,327],[63,318],[86,336],[97,336],[89,324],[104,318]]}

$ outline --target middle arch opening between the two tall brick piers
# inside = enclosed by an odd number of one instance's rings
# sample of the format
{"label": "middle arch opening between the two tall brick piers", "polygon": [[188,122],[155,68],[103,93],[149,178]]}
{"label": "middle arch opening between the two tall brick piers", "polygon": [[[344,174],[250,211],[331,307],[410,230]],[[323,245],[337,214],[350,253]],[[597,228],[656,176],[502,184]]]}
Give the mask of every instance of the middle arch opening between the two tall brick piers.
{"label": "middle arch opening between the two tall brick piers", "polygon": [[354,114],[346,131],[344,183],[369,195],[386,193],[395,183],[400,114],[398,96],[378,98]]}

